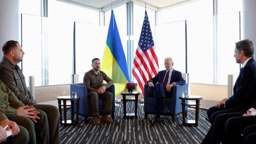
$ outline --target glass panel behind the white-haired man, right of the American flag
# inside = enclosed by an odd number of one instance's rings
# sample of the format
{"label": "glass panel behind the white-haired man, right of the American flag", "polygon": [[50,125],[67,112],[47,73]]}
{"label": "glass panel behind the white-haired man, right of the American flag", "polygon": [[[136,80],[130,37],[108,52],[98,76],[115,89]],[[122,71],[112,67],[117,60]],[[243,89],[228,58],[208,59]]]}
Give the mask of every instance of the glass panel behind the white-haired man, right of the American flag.
{"label": "glass panel behind the white-haired man, right of the American flag", "polygon": [[159,70],[165,70],[164,58],[171,57],[174,60],[174,69],[186,73],[185,21],[160,24],[155,31]]}

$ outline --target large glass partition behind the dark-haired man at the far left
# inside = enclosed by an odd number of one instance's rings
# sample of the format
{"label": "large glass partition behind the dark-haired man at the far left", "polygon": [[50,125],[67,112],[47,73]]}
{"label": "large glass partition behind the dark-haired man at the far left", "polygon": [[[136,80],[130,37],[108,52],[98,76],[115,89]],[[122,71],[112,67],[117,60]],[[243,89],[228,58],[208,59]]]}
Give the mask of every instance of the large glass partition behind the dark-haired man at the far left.
{"label": "large glass partition behind the dark-haired man at the far left", "polygon": [[72,74],[74,22],[22,14],[22,71],[35,86],[68,84]]}

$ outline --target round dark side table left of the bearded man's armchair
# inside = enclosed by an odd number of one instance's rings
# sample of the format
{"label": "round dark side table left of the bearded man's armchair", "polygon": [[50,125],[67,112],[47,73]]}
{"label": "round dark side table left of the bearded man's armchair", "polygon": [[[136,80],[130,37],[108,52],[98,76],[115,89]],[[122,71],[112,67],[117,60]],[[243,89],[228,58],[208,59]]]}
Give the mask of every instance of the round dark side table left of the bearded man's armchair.
{"label": "round dark side table left of the bearded man's armchair", "polygon": [[[64,124],[65,126],[68,124],[78,125],[80,97],[78,96],[77,98],[70,98],[70,96],[58,96],[57,99],[59,104],[60,123]],[[62,100],[63,103],[61,103]],[[67,100],[70,100],[70,102],[66,102]],[[76,104],[74,104],[74,100],[76,100]],[[61,106],[63,106],[64,109],[64,121],[62,121]],[[67,120],[67,106],[71,106],[71,120]],[[76,122],[74,122],[74,106],[76,106]]]}

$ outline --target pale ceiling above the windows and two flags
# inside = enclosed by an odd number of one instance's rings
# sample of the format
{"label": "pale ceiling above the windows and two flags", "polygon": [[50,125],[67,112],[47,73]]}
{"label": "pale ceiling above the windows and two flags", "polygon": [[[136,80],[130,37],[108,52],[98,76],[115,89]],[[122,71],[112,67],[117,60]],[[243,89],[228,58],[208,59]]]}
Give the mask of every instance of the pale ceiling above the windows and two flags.
{"label": "pale ceiling above the windows and two flags", "polygon": [[[193,2],[196,0],[58,0],[61,2],[65,2],[68,4],[73,4],[76,6],[82,6],[85,8],[90,8],[98,11],[107,11],[111,9],[111,5],[113,8],[125,4],[126,2],[135,2],[142,6],[145,5],[147,8],[153,10],[163,10],[166,8],[186,4],[189,2]],[[112,3],[112,4],[111,4]]]}

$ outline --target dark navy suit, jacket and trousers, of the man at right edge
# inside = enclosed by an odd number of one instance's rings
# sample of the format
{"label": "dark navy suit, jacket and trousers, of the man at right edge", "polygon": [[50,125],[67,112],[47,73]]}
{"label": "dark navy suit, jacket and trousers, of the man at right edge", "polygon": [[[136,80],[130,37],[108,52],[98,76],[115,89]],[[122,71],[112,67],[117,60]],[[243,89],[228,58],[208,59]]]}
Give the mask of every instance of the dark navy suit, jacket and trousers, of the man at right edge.
{"label": "dark navy suit, jacket and trousers, of the man at right edge", "polygon": [[[230,130],[231,121],[238,121],[240,118],[237,116],[242,116],[251,107],[255,108],[256,102],[256,61],[251,58],[244,68],[240,71],[240,74],[236,80],[234,86],[234,95],[226,100],[226,108],[209,108],[207,111],[208,118],[212,124],[210,130],[206,134],[202,144],[219,144],[221,141],[223,143],[230,143],[231,140],[229,136],[225,135],[226,131]],[[236,120],[232,118],[236,117]],[[247,117],[249,118],[249,117]],[[253,117],[250,117],[253,118]],[[244,118],[241,119],[241,121]],[[240,121],[240,122],[241,122]],[[245,120],[244,123],[238,123],[238,125],[244,126],[248,122]],[[251,124],[251,123],[250,123]]]}

